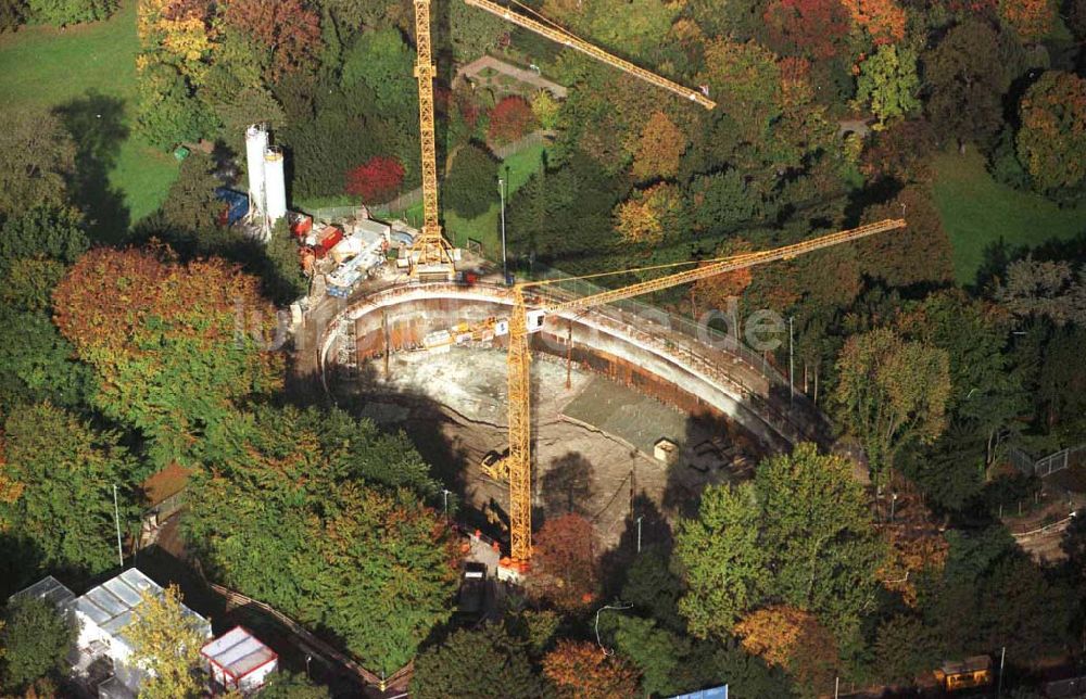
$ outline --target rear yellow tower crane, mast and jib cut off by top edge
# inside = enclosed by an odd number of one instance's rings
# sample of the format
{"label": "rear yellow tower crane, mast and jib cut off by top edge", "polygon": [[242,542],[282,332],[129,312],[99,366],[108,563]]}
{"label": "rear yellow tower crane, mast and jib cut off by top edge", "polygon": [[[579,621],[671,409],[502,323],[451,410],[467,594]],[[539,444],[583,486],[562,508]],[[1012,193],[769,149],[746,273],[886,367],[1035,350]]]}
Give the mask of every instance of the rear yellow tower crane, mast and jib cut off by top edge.
{"label": "rear yellow tower crane, mast and jib cut off by top edge", "polygon": [[[452,281],[455,277],[454,262],[457,257],[457,251],[453,249],[441,230],[438,206],[438,156],[433,140],[433,78],[437,75],[437,65],[433,62],[430,41],[430,0],[414,0],[414,2],[415,78],[418,80],[418,123],[422,173],[422,230],[407,252],[408,275],[412,279],[420,281]],[[523,14],[510,12],[507,8],[490,2],[490,0],[465,0],[465,2],[576,49],[646,82],[697,102],[708,110],[716,106],[716,103],[702,91],[683,87],[608,53],[573,36],[541,15],[536,14],[540,20],[533,20]],[[525,9],[531,12],[529,8]]]}

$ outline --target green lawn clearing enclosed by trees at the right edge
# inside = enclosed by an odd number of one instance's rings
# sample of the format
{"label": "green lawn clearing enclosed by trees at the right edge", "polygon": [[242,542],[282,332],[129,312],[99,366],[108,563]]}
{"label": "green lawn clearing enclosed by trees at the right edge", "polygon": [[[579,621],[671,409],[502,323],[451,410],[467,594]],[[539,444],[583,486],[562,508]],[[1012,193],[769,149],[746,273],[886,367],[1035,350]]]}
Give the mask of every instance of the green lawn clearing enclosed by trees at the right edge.
{"label": "green lawn clearing enclosed by trees at the right edge", "polygon": [[1011,246],[1036,246],[1086,230],[1086,204],[1061,209],[1038,194],[992,179],[975,150],[935,158],[935,205],[954,245],[959,284],[976,280],[984,251],[1002,239]]}

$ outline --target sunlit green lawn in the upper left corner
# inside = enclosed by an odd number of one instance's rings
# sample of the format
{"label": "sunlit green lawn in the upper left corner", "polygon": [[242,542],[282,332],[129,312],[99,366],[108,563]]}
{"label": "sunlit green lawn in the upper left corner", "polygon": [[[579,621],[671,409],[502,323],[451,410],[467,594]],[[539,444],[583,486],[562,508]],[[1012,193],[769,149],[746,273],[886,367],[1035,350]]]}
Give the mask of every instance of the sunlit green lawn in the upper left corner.
{"label": "sunlit green lawn in the upper left corner", "polygon": [[[68,27],[30,27],[0,36],[0,94],[4,110],[64,109],[93,103],[99,96],[119,106],[117,138],[110,152],[96,153],[106,181],[131,221],[162,202],[177,175],[177,163],[130,135],[136,99],[136,2],[128,0],[106,22]],[[74,134],[77,141],[80,134]],[[80,166],[87,165],[80,163]]]}

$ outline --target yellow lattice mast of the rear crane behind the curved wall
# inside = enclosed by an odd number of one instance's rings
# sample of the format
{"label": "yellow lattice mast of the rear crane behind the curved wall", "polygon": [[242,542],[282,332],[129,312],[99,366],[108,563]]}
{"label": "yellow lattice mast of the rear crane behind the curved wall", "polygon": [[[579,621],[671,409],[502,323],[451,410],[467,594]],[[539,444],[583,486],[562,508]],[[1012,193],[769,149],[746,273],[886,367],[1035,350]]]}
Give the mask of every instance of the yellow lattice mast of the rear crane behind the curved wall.
{"label": "yellow lattice mast of the rear crane behind the curved wall", "polygon": [[433,78],[437,66],[430,43],[430,0],[415,0],[415,77],[418,79],[418,124],[421,144],[422,230],[409,252],[411,275],[452,279],[452,245],[438,219],[438,154],[433,141]]}

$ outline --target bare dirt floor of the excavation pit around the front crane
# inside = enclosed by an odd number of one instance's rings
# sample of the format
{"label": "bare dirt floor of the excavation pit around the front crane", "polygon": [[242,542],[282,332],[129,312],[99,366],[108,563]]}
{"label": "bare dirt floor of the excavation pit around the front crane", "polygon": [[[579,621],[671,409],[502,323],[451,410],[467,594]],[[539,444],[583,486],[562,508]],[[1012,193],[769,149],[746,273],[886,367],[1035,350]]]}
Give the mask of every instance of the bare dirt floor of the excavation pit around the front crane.
{"label": "bare dirt floor of the excavation pit around the front crane", "polygon": [[[439,475],[457,483],[473,510],[467,514],[504,538],[506,485],[479,468],[488,452],[507,444],[504,352],[401,353],[389,369],[384,378],[380,359],[361,367],[366,378],[351,390],[364,395],[358,411],[408,432]],[[734,425],[692,419],[576,366],[566,389],[559,359],[535,357],[532,379],[534,519],[582,513],[604,548],[619,542],[632,519],[689,511],[706,483],[745,478],[758,456]],[[675,463],[653,457],[661,436],[680,444]]]}

